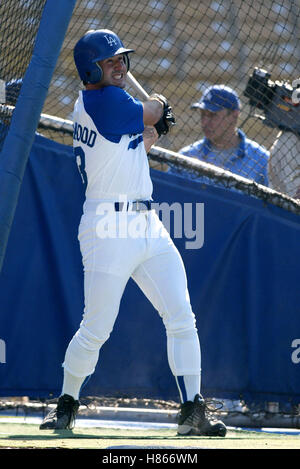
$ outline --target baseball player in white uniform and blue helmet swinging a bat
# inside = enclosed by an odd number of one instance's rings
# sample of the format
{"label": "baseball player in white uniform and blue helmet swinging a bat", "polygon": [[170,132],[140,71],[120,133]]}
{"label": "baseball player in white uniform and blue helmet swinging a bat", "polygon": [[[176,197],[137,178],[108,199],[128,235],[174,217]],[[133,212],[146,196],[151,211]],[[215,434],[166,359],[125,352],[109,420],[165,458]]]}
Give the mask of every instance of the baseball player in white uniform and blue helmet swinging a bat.
{"label": "baseball player in white uniform and blue helmet swinging a bat", "polygon": [[[141,102],[125,91],[129,54],[110,30],[87,32],[74,60],[85,89],[74,107],[74,152],[86,199],[79,226],[85,308],[66,350],[56,409],[41,429],[72,428],[80,389],[109,338],[130,278],[144,292],[166,328],[170,369],[179,390],[180,435],[225,436],[206,415],[200,394],[200,345],[182,259],[155,210],[146,150],[175,122],[165,97]],[[143,140],[145,128],[156,135]]]}

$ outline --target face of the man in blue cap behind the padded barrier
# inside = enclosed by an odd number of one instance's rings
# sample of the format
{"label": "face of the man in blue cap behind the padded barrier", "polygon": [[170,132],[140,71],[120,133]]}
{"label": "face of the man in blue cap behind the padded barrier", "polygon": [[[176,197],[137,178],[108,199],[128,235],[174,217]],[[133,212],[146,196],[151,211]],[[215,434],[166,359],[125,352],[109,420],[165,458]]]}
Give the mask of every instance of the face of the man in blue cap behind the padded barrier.
{"label": "face of the man in blue cap behind the padded barrier", "polygon": [[228,112],[223,109],[218,112],[211,112],[207,109],[201,109],[201,126],[206,138],[212,143],[227,143],[235,133],[237,122],[237,113]]}

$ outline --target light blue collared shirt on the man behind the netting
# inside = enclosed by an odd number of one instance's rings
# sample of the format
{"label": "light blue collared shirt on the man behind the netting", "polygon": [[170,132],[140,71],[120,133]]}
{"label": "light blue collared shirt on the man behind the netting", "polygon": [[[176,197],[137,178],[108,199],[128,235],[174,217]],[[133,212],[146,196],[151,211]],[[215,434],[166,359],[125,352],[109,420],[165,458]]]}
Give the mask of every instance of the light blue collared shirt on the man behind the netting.
{"label": "light blue collared shirt on the man behind the netting", "polygon": [[[254,180],[258,184],[268,186],[269,152],[258,143],[247,138],[240,129],[238,129],[238,135],[240,138],[239,145],[229,150],[220,151],[213,147],[207,138],[203,138],[182,148],[179,153],[198,158],[205,163],[214,164],[232,173]],[[207,179],[207,182],[209,181],[208,178],[205,179]]]}

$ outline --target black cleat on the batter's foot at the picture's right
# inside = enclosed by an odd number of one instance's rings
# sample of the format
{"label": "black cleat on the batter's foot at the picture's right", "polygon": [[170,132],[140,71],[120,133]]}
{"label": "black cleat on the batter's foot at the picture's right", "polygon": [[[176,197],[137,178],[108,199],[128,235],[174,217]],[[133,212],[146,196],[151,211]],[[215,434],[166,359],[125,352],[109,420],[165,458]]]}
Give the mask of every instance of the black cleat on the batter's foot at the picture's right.
{"label": "black cleat on the batter's foot at the picture's right", "polygon": [[205,415],[207,405],[202,396],[197,394],[194,402],[181,404],[178,431],[181,436],[225,436],[226,426],[221,420],[213,420]]}

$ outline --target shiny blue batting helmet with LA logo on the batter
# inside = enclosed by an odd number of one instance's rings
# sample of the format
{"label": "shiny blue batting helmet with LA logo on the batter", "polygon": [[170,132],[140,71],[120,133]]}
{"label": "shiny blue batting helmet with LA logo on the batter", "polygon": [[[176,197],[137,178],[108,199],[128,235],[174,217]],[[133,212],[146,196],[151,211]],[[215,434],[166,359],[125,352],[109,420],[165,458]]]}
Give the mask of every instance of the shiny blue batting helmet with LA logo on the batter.
{"label": "shiny blue batting helmet with LA logo on the batter", "polygon": [[98,83],[102,78],[102,69],[97,62],[114,55],[124,54],[127,70],[129,70],[129,52],[121,39],[109,29],[88,31],[74,47],[74,61],[80,79],[84,83]]}

